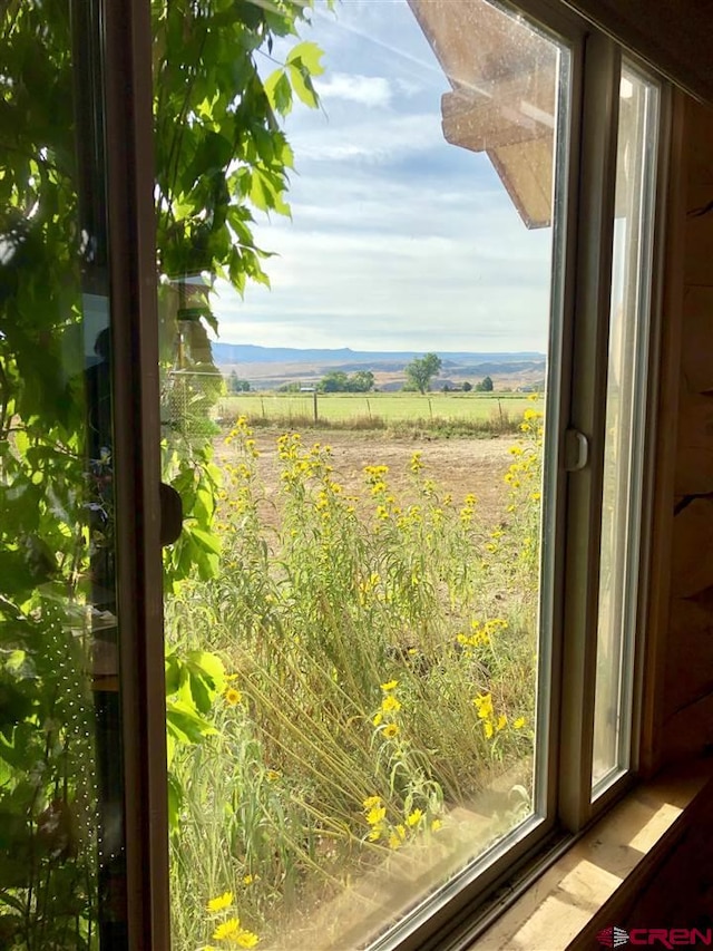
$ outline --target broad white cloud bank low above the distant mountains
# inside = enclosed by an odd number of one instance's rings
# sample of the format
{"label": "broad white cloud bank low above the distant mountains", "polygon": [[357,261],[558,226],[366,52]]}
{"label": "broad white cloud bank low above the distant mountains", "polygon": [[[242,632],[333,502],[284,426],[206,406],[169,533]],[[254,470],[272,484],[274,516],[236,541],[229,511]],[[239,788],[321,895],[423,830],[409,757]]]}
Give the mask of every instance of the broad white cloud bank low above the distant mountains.
{"label": "broad white cloud bank low above the distant mountains", "polygon": [[[358,206],[342,207],[345,220]],[[414,216],[412,224],[418,223]],[[488,222],[492,226],[489,233]],[[544,349],[549,235],[478,222],[463,208],[451,234],[421,221],[412,232],[281,229],[267,262],[272,292],[229,291],[222,336],[274,346],[390,349]]]}

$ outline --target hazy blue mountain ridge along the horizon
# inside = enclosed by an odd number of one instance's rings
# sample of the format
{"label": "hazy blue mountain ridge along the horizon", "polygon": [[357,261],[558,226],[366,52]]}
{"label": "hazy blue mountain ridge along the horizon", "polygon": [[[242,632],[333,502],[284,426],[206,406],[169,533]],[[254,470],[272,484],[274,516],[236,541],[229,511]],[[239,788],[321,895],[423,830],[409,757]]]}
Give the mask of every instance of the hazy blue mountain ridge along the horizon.
{"label": "hazy blue mountain ridge along the horizon", "polygon": [[[351,347],[340,349],[300,349],[296,347],[258,347],[254,343],[213,343],[213,359],[216,365],[226,366],[234,363],[323,363],[380,366],[382,363],[401,365],[409,362],[414,357],[422,357],[426,350],[352,350]],[[541,362],[545,355],[536,350],[517,350],[512,352],[468,352],[468,351],[434,351],[443,362],[443,369],[448,366],[497,365],[497,363],[524,363]]]}

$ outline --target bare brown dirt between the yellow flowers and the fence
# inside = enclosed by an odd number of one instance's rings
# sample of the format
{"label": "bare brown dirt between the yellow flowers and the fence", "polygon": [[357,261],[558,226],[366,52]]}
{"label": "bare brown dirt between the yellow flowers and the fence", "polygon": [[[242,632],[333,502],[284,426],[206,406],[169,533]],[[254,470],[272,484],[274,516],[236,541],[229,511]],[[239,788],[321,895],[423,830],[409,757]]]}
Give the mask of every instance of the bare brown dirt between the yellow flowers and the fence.
{"label": "bare brown dirt between the yellow flowers and the fence", "polygon": [[[280,484],[280,463],[276,440],[280,433],[256,430],[254,439],[260,450],[258,472],[268,497],[276,495]],[[450,493],[458,504],[469,493],[478,499],[479,512],[486,523],[494,523],[502,511],[505,483],[502,477],[512,462],[509,448],[511,436],[491,439],[476,438],[403,438],[382,433],[305,431],[305,446],[320,443],[330,446],[334,477],[348,494],[361,495],[364,489],[364,466],[389,466],[389,484],[398,497],[408,499],[412,488],[410,470],[414,453],[421,454],[423,475],[432,478],[439,488]],[[222,440],[217,447],[217,462],[233,460],[232,450]],[[267,516],[268,517],[268,516]]]}

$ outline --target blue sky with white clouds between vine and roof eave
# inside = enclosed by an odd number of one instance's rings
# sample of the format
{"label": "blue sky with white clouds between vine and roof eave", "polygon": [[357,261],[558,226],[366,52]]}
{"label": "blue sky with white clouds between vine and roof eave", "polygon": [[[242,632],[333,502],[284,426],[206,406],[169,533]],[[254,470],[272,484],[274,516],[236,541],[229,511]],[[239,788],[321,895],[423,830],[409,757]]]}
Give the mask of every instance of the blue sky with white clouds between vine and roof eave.
{"label": "blue sky with white clouds between vine and roof eave", "polygon": [[445,140],[451,87],[406,0],[318,7],[302,38],[325,71],[321,109],[286,120],[292,219],[255,213],[272,289],[218,284],[219,339],[545,352],[551,231],[525,227],[485,154]]}

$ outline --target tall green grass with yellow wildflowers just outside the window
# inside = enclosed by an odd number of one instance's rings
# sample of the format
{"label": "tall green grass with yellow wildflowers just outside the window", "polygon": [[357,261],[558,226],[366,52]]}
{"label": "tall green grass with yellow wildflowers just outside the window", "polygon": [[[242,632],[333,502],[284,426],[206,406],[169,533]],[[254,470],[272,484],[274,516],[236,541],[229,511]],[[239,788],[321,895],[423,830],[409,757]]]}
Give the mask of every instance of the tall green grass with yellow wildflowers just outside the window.
{"label": "tall green grass with yellow wildflowers just outside the window", "polygon": [[246,934],[279,942],[318,894],[438,840],[455,806],[533,749],[536,439],[514,447],[488,526],[419,454],[414,501],[378,462],[350,496],[329,446],[283,434],[276,528],[258,517],[246,419],[226,441],[221,575],[167,603],[172,641],[219,652],[231,678],[215,735],[174,763],[179,951],[211,938],[206,902],[224,892]]}

